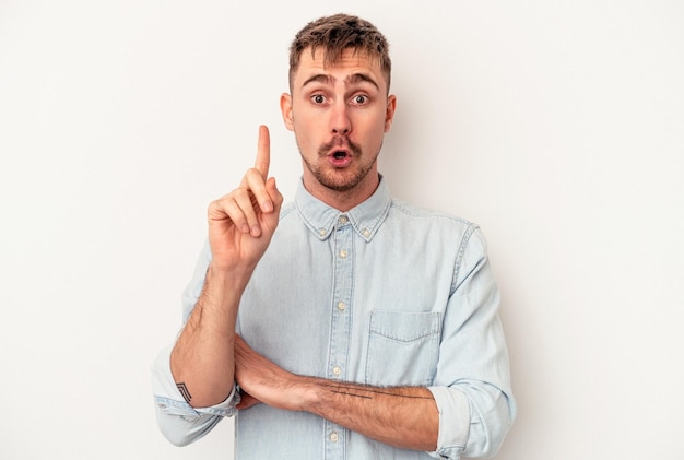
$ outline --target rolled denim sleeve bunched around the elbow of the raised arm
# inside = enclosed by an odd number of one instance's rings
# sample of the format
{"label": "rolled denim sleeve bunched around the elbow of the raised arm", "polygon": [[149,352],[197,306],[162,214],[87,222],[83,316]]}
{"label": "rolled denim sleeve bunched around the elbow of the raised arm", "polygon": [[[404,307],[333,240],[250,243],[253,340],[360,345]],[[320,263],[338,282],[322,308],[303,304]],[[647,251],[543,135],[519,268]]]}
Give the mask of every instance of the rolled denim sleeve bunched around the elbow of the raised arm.
{"label": "rolled denim sleeve bunched around the elbow of the raised arm", "polygon": [[203,437],[223,417],[235,415],[239,393],[234,385],[231,394],[222,403],[192,408],[180,394],[170,373],[172,349],[168,346],[162,350],[152,364],[152,391],[162,434],[172,444],[186,446]]}

